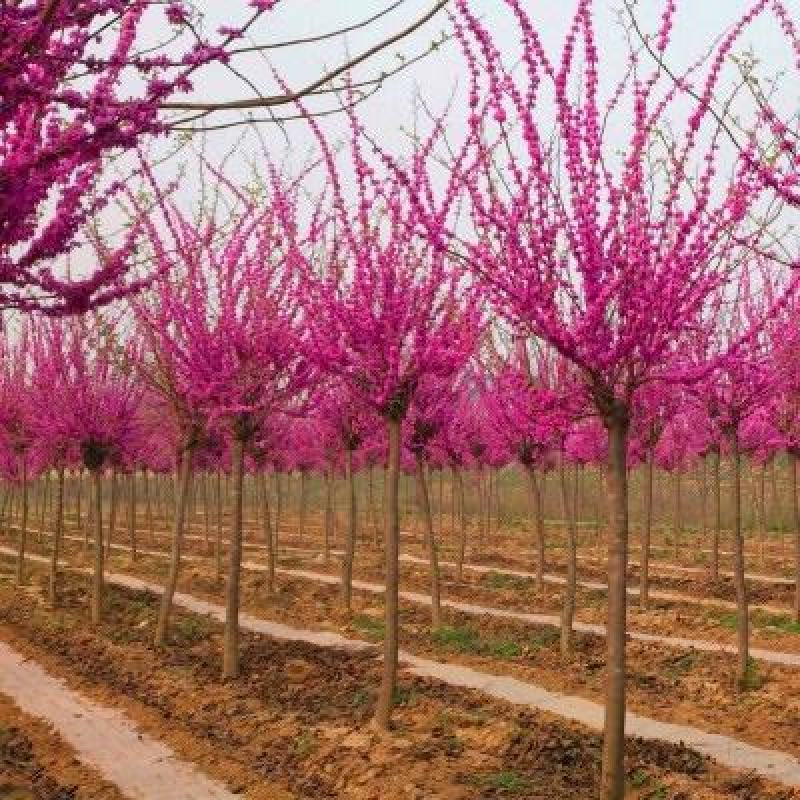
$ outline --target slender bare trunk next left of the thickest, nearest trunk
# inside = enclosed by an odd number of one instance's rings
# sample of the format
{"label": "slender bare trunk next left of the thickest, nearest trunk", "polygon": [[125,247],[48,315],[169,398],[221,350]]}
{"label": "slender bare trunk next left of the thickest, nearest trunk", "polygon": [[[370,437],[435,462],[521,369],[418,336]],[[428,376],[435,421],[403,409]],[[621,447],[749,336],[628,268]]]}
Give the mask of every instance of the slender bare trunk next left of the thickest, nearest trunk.
{"label": "slender bare trunk next left of the thickest, nearest trunk", "polygon": [[383,639],[383,678],[378,692],[373,724],[383,731],[389,730],[392,716],[394,690],[397,682],[397,647],[399,638],[398,585],[400,555],[400,508],[398,502],[400,482],[400,420],[387,422],[389,458],[386,470],[386,595],[385,634]]}

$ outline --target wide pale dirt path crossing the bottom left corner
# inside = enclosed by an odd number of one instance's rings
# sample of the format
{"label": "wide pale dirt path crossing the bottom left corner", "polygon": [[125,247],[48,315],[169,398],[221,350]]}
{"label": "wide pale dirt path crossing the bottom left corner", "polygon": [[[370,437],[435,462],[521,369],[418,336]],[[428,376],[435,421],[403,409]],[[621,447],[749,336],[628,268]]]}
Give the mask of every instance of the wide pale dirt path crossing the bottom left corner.
{"label": "wide pale dirt path crossing the bottom left corner", "polygon": [[83,697],[0,642],[0,692],[45,720],[78,758],[132,800],[235,800],[216,781],[141,733],[121,712]]}

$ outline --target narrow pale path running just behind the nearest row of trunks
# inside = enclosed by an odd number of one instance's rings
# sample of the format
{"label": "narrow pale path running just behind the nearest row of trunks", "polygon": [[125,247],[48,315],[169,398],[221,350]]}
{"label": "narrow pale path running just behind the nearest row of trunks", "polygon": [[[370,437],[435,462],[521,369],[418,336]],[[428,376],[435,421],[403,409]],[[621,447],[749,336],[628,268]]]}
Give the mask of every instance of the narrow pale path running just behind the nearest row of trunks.
{"label": "narrow pale path running just behind the nearest row of trunks", "polygon": [[[13,555],[10,548],[0,548],[0,552]],[[31,556],[31,560],[47,561],[46,558],[35,555]],[[130,589],[161,592],[161,586],[129,575],[108,573],[106,580]],[[195,613],[207,614],[218,621],[224,621],[225,618],[224,606],[182,592],[175,594],[175,604]],[[240,625],[244,630],[276,639],[307,642],[319,647],[339,647],[347,650],[376,648],[376,645],[348,639],[337,633],[294,628],[246,613],[240,615]],[[525,705],[556,714],[593,730],[602,729],[604,709],[599,703],[553,692],[517,678],[481,672],[458,664],[442,663],[408,652],[401,652],[400,658],[405,669],[420,677],[475,689],[516,705]],[[689,726],[659,722],[640,714],[628,713],[626,720],[629,736],[660,739],[675,744],[684,743],[733,769],[753,771],[789,786],[800,786],[800,760],[787,753],[756,747],[729,736]],[[196,797],[202,796],[196,795]],[[227,795],[222,796],[227,797]],[[172,797],[174,795],[165,795],[164,800],[171,800]]]}

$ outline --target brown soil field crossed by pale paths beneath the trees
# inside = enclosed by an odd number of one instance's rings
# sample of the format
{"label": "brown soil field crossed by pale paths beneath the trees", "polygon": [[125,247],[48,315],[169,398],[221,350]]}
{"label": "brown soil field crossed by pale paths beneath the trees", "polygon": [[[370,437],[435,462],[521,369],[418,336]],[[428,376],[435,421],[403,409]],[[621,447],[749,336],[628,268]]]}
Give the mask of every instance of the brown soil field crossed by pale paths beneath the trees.
{"label": "brown soil field crossed by pale paths beneath the trees", "polygon": [[[776,471],[779,478],[780,465]],[[662,484],[668,479],[659,476]],[[63,680],[67,689],[122,712],[137,730],[165,743],[173,757],[231,796],[595,797],[608,611],[602,515],[579,519],[574,641],[565,657],[559,628],[566,529],[558,498],[544,497],[540,585],[521,476],[508,469],[494,473],[494,507],[486,500],[488,485],[476,481],[476,490],[485,494],[476,492],[465,515],[459,576],[460,531],[451,527],[457,515],[450,505],[452,487],[443,477],[441,491],[433,493],[442,605],[442,617],[433,625],[429,549],[407,487],[400,551],[401,673],[387,736],[369,725],[385,636],[383,533],[374,524],[382,513],[380,482],[372,488],[370,508],[366,477],[359,476],[361,511],[347,609],[340,588],[347,514],[334,494],[326,524],[319,476],[284,480],[279,517],[278,484],[270,483],[265,506],[257,484],[245,483],[237,679],[224,679],[221,672],[230,495],[223,478],[218,500],[208,475],[197,477],[190,498],[176,608],[166,644],[158,648],[152,639],[171,557],[170,482],[151,476],[145,501],[142,475],[116,478],[113,513],[108,503],[103,508],[105,614],[93,626],[87,624],[94,551],[80,494],[85,487],[74,476],[66,482],[57,608],[49,599],[50,478],[31,492],[22,592],[14,569],[19,498],[7,497],[0,540],[0,641]],[[132,506],[133,481],[138,486]],[[600,476],[586,471],[582,481],[583,507],[589,509],[600,496]],[[777,480],[776,485],[782,486]],[[105,490],[106,497],[112,494],[110,483]],[[780,491],[775,497],[780,500]],[[635,521],[631,528],[627,681],[633,717],[626,796],[800,796],[793,788],[800,785],[800,703],[794,700],[800,697],[800,624],[793,614],[792,542],[773,521],[780,506],[772,505],[764,529],[755,524],[747,537],[751,661],[741,685],[729,533],[721,530],[720,574],[712,580],[705,551],[713,526],[707,520],[704,535],[702,520],[693,524],[702,498],[685,493],[680,527],[672,518],[674,496],[664,492],[659,499],[662,516],[651,544],[646,608],[638,597]],[[757,495],[753,499],[758,502]],[[265,508],[274,547],[272,591]],[[754,511],[754,523],[759,518]],[[7,725],[9,741],[33,737],[31,758],[49,759],[52,780],[63,779],[59,765],[72,763],[71,751],[57,728],[42,737],[41,724],[31,718],[12,716]],[[9,780],[24,778],[16,761],[4,764]],[[101,779],[82,776],[77,783],[77,797],[118,796],[116,789],[97,788]]]}

